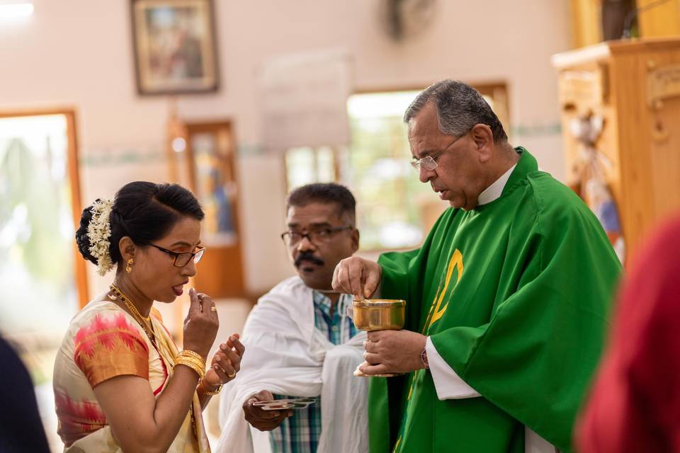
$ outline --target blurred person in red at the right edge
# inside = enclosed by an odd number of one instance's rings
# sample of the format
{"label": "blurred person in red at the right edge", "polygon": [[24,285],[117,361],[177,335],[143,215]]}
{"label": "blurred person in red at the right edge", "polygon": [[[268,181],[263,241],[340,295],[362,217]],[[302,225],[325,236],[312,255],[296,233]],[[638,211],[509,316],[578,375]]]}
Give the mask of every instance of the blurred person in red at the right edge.
{"label": "blurred person in red at the right edge", "polygon": [[680,452],[680,217],[642,247],[579,420],[579,453]]}

